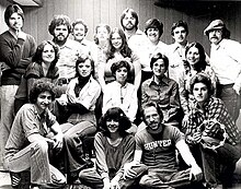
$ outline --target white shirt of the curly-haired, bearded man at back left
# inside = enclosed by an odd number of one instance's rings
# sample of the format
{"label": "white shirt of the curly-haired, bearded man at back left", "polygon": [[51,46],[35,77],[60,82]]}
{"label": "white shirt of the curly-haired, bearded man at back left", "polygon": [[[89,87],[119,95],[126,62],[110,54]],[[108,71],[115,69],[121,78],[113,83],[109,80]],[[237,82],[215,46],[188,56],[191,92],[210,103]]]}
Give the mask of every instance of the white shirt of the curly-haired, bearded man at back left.
{"label": "white shirt of the curly-haired, bearded man at back left", "polygon": [[59,59],[56,63],[59,69],[59,78],[72,79],[76,76],[76,61],[81,54],[88,55],[88,50],[72,39],[67,39],[66,44],[59,47]]}

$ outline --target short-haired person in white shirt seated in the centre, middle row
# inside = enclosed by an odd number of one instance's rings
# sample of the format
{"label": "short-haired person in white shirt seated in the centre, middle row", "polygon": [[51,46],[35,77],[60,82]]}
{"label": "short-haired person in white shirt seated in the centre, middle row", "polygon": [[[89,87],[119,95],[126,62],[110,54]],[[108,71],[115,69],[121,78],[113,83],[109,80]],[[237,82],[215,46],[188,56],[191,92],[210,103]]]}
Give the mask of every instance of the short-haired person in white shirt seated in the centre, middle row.
{"label": "short-haired person in white shirt seated in the centre, middle row", "polygon": [[[113,63],[111,70],[115,76],[115,81],[108,83],[105,87],[102,113],[105,114],[111,107],[119,107],[124,110],[129,120],[134,122],[138,101],[135,85],[127,82],[130,66],[126,60],[120,60]],[[137,129],[137,127],[133,125],[133,130],[136,130],[135,128]]]}

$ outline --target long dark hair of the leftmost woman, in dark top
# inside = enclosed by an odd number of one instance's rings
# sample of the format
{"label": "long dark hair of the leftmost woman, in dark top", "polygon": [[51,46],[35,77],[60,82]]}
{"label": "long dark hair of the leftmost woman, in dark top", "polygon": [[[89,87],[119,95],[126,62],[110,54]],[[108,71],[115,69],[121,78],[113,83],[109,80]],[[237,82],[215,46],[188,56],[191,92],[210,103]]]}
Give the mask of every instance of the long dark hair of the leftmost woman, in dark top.
{"label": "long dark hair of the leftmost woman, in dark top", "polygon": [[51,64],[50,64],[50,67],[49,67],[50,69],[53,69],[53,68],[55,68],[55,66],[56,66],[56,63],[57,63],[57,61],[58,61],[58,59],[59,59],[59,47],[58,47],[55,43],[53,43],[51,40],[44,40],[44,42],[42,42],[42,43],[37,46],[37,49],[36,49],[35,54],[34,54],[34,56],[33,56],[33,58],[32,58],[32,61],[33,61],[33,62],[36,62],[36,63],[38,63],[38,64],[42,63],[42,61],[43,61],[43,56],[42,56],[42,54],[43,54],[44,47],[45,47],[46,45],[53,46],[53,48],[54,48],[54,50],[55,50],[55,59],[53,60],[53,62],[51,62]]}

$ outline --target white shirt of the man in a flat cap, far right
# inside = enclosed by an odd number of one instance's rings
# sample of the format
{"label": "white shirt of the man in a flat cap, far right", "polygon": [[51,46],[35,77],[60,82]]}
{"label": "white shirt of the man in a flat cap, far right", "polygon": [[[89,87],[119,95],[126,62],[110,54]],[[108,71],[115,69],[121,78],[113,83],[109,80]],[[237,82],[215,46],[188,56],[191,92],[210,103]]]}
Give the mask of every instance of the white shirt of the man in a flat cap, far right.
{"label": "white shirt of the man in a flat cap, far right", "polygon": [[241,73],[241,44],[230,39],[211,44],[210,66],[220,84],[236,83]]}

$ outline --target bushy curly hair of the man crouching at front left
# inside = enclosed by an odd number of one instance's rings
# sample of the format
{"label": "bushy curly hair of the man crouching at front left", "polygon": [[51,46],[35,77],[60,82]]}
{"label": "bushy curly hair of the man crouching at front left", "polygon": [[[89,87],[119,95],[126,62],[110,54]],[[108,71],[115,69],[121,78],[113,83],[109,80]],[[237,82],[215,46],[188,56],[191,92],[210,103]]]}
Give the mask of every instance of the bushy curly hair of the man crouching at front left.
{"label": "bushy curly hair of the man crouching at front left", "polygon": [[49,92],[51,94],[51,101],[55,101],[56,90],[55,85],[44,79],[39,79],[34,82],[33,87],[30,91],[30,102],[35,104],[41,93]]}

